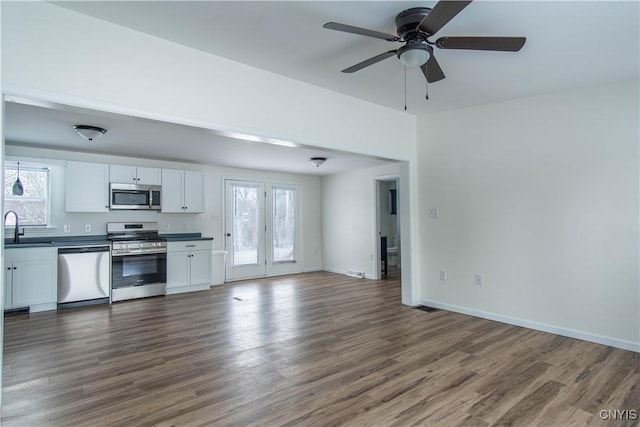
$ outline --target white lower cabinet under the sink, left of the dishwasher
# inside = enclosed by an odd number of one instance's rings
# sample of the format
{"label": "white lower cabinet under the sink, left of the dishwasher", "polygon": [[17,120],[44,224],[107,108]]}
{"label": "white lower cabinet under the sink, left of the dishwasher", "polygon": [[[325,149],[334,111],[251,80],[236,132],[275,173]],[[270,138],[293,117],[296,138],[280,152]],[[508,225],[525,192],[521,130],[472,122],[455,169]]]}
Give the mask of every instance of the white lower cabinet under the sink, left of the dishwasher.
{"label": "white lower cabinet under the sink, left of the dishwasher", "polygon": [[57,308],[57,248],[6,249],[4,308],[31,312]]}

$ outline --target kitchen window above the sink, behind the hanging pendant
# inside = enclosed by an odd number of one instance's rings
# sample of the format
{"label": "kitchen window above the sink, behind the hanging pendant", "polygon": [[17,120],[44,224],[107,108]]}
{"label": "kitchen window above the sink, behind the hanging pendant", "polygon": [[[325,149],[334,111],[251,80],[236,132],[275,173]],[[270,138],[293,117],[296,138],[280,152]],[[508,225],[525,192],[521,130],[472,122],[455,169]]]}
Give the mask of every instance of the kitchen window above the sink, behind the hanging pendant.
{"label": "kitchen window above the sink, behind the hanging pendant", "polygon": [[[7,163],[4,168],[4,211],[15,211],[20,225],[46,226],[49,223],[49,168],[20,165],[22,196],[14,196],[12,188],[18,178],[16,164]],[[15,225],[15,216],[7,217],[6,225]]]}

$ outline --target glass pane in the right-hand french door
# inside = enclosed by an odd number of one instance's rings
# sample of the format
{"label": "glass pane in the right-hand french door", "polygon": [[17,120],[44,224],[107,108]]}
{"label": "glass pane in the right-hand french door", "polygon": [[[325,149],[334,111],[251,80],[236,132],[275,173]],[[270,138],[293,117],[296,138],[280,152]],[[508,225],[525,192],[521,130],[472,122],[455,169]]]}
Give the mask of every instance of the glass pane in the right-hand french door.
{"label": "glass pane in the right-hand french door", "polygon": [[296,235],[295,198],[293,188],[273,189],[273,261],[294,261]]}

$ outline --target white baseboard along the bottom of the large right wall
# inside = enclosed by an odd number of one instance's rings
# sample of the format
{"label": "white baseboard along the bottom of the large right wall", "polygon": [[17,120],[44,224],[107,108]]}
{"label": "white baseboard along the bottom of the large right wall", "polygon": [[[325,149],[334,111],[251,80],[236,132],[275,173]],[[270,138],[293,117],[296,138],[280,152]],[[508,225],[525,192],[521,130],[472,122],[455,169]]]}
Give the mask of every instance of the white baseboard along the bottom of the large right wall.
{"label": "white baseboard along the bottom of the large right wall", "polygon": [[483,319],[495,320],[496,322],[507,323],[509,325],[522,326],[524,328],[534,329],[536,331],[549,332],[556,335],[562,335],[564,337],[576,338],[583,341],[590,341],[596,344],[608,345],[611,347],[621,348],[623,350],[635,351],[636,353],[640,353],[640,342],[633,342],[633,341],[621,340],[618,338],[605,337],[602,335],[592,334],[589,332],[576,331],[574,329],[562,328],[560,326],[547,325],[545,323],[533,322],[530,320],[503,316],[500,314],[488,313],[485,311],[474,310],[471,308],[445,304],[438,301],[431,301],[427,299],[420,300],[420,304],[423,304],[429,307],[440,308],[443,310],[453,311],[456,313],[468,314],[469,316],[480,317]]}

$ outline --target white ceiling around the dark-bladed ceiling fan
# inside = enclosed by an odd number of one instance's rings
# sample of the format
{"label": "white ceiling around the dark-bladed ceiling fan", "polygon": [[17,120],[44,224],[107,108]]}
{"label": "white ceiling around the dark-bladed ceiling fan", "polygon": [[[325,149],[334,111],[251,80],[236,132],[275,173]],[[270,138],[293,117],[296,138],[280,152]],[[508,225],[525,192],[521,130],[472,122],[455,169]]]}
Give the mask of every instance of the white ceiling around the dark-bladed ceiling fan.
{"label": "white ceiling around the dark-bladed ceiling fan", "polygon": [[[66,8],[257,68],[401,110],[404,73],[389,58],[340,70],[391,43],[322,28],[328,21],[395,34],[404,9],[435,1],[62,1]],[[483,1],[436,34],[525,36],[520,52],[439,50],[446,79],[407,72],[408,110],[428,113],[638,76],[637,1]],[[435,40],[435,39],[434,39]]]}

